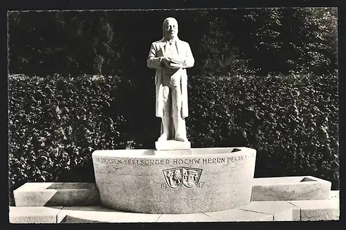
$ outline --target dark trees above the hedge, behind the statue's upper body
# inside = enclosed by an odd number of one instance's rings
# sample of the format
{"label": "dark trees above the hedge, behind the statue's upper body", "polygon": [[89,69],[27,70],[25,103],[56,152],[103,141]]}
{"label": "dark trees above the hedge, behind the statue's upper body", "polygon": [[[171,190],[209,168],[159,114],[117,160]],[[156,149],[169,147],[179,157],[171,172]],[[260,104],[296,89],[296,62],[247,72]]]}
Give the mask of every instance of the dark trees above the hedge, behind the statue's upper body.
{"label": "dark trees above the hedge, behind the statue's upper body", "polygon": [[[337,69],[336,8],[9,12],[10,73],[144,76],[162,21],[176,17],[196,65],[190,75]],[[143,72],[145,71],[145,72]]]}

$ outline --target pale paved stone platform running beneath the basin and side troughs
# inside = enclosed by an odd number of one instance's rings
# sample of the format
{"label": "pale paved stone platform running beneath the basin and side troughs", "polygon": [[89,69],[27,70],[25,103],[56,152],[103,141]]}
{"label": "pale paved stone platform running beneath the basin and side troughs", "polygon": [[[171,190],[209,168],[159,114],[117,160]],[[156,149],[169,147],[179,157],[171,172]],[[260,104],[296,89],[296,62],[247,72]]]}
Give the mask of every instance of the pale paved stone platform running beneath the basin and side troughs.
{"label": "pale paved stone platform running beneath the basin and side troughs", "polygon": [[11,223],[315,221],[338,220],[339,215],[335,198],[251,202],[239,209],[194,214],[126,213],[102,206],[10,207]]}

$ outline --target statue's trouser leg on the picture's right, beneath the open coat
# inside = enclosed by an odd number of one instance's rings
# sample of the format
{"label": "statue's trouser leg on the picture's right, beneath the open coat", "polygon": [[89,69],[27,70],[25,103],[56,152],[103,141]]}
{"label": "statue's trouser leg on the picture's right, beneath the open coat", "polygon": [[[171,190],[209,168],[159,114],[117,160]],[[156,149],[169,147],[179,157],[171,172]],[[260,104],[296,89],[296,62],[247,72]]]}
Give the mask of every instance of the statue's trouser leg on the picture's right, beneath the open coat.
{"label": "statue's trouser leg on the picture's right, beneath the open coat", "polygon": [[177,141],[185,141],[186,139],[185,120],[181,117],[181,103],[181,86],[176,85],[172,87],[172,117]]}

